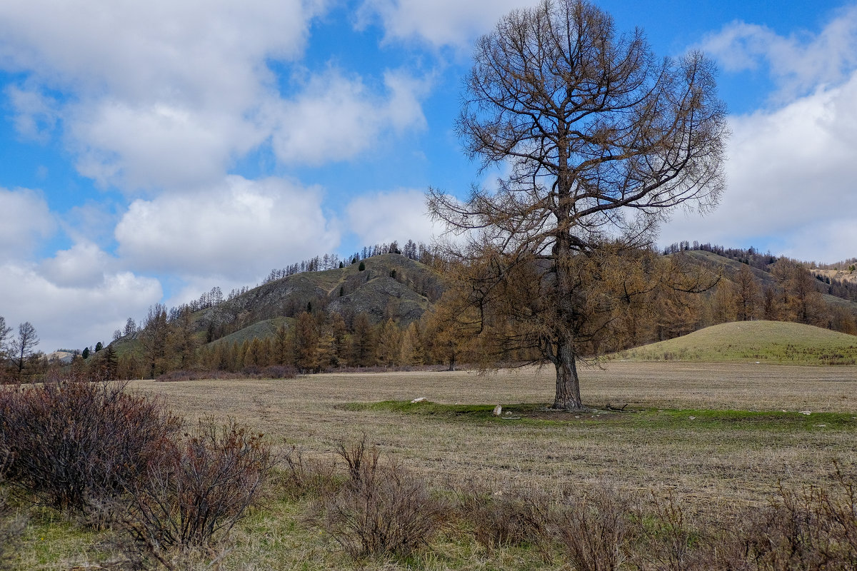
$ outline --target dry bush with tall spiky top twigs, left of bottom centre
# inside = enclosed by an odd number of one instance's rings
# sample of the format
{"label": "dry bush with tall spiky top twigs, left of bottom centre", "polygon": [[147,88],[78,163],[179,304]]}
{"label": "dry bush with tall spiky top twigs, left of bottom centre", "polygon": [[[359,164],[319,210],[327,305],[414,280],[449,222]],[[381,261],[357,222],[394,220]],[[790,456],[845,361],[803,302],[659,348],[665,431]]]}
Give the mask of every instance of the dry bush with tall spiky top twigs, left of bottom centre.
{"label": "dry bush with tall spiky top twigs, left of bottom centre", "polygon": [[350,478],[321,504],[317,525],[354,559],[408,556],[438,531],[448,506],[433,497],[422,479],[402,467],[381,463],[366,439],[339,444]]}

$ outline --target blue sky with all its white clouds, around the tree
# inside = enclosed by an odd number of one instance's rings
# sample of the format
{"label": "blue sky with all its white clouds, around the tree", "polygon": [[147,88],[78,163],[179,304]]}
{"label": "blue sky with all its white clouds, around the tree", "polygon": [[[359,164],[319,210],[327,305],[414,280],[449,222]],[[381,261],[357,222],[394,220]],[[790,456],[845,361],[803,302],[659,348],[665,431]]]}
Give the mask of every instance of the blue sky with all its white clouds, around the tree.
{"label": "blue sky with all its white clouds, around the tree", "polygon": [[[4,0],[0,316],[39,349],[438,231],[479,175],[454,134],[475,40],[530,0]],[[857,3],[596,3],[659,56],[703,50],[727,188],[659,243],[857,256]]]}

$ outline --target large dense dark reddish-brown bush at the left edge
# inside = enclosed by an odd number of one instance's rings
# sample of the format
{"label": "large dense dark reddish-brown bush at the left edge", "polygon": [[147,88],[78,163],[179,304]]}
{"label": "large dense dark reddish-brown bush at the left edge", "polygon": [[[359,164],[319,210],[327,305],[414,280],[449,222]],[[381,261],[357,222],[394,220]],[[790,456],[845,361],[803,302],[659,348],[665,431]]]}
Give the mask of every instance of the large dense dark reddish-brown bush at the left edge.
{"label": "large dense dark reddish-brown bush at the left edge", "polygon": [[157,461],[180,420],[125,384],[63,381],[0,390],[0,445],[18,491],[87,512],[117,497]]}

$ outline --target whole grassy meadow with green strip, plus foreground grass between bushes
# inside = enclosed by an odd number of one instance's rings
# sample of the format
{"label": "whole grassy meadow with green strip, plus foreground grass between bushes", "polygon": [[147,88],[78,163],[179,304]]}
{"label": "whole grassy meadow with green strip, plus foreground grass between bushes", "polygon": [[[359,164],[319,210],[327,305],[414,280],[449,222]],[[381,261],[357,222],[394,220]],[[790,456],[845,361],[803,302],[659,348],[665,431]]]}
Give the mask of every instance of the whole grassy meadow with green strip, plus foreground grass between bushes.
{"label": "whole grassy meadow with green strip, plus foreground grass between bushes", "polygon": [[[337,443],[365,436],[383,459],[445,490],[479,485],[495,494],[560,497],[607,486],[674,497],[688,516],[728,518],[767,505],[779,484],[828,482],[835,461],[845,473],[857,468],[857,366],[610,361],[581,374],[588,413],[545,409],[554,383],[548,368],[130,387],[164,396],[189,420],[237,419],[283,453],[294,446],[307,458],[333,460]],[[417,397],[427,401],[411,404]],[[490,413],[496,404],[501,418]],[[311,504],[274,485],[263,507],[233,529],[214,568],[572,568],[526,545],[486,549],[461,527],[404,559],[356,563],[308,523]],[[105,568],[110,561],[105,532],[29,511],[15,568]]]}

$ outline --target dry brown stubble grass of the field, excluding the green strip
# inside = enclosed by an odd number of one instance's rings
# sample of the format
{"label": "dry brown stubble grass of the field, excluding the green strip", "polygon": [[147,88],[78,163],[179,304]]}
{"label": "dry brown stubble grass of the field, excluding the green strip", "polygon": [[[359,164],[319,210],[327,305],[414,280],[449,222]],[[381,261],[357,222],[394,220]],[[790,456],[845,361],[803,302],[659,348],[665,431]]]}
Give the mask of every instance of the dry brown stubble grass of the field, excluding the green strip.
{"label": "dry brown stubble grass of the field, excluding the green strip", "polygon": [[[838,411],[857,415],[857,367],[609,363],[583,372],[584,400],[632,407]],[[335,443],[364,433],[385,455],[429,481],[461,485],[474,474],[497,486],[559,493],[607,480],[629,491],[672,490],[706,509],[760,504],[779,481],[812,484],[830,463],[857,464],[847,431],[759,431],[730,427],[629,430],[582,422],[453,422],[349,411],[354,401],[548,402],[548,369],[325,374],[290,380],[194,381],[141,390],[163,395],[189,417],[232,416],[284,445],[332,457]]]}

